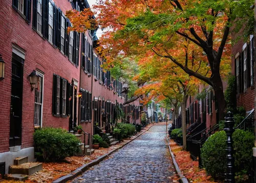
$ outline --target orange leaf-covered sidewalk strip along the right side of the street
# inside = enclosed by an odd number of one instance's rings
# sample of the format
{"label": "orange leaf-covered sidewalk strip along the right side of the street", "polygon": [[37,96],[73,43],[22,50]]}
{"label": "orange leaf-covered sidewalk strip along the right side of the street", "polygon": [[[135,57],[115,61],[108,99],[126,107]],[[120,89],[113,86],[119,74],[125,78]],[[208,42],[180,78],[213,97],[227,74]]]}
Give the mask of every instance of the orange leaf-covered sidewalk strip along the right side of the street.
{"label": "orange leaf-covered sidewalk strip along the right side of the street", "polygon": [[[178,163],[180,170],[183,175],[188,179],[189,182],[193,183],[211,183],[217,182],[207,175],[204,169],[198,167],[198,161],[191,159],[188,151],[182,150],[182,146],[177,145],[174,140],[169,140],[170,148],[172,149],[176,162]],[[174,177],[175,179],[175,177]]]}

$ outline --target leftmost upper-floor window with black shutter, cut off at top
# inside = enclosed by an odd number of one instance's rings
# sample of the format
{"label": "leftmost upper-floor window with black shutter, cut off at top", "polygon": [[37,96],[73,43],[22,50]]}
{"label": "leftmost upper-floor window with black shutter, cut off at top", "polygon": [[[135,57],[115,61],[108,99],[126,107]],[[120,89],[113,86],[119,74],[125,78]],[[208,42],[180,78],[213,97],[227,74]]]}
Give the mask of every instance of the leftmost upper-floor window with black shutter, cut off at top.
{"label": "leftmost upper-floor window with black shutter, cut off at top", "polygon": [[[23,14],[28,23],[31,20],[31,0],[12,0],[12,7]],[[23,17],[24,17],[23,16]]]}

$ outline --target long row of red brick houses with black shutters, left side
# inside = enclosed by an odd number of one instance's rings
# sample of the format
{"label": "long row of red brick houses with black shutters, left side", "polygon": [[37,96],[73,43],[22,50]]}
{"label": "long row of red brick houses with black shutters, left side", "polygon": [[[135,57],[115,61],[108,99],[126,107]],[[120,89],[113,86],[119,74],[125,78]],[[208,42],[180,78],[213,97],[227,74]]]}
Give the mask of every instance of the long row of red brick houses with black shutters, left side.
{"label": "long row of red brick houses with black shutters, left side", "polygon": [[[104,72],[95,52],[94,31],[70,32],[70,9],[89,8],[84,0],[6,0],[0,10],[0,164],[34,161],[33,133],[39,127],[68,131],[81,124],[94,134],[121,113],[139,123],[139,101],[122,103],[122,82]],[[33,79],[36,78],[36,79]],[[128,120],[127,120],[128,121]],[[2,174],[2,172],[0,172]]]}

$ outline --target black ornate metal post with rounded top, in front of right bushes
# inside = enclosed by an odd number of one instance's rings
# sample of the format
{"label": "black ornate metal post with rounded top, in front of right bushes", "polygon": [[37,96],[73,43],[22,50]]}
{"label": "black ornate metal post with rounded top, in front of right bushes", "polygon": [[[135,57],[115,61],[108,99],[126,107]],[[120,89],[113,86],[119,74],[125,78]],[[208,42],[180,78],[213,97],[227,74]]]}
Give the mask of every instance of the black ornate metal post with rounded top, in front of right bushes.
{"label": "black ornate metal post with rounded top, in front of right bushes", "polygon": [[234,183],[234,158],[233,158],[233,140],[232,140],[232,134],[234,132],[233,129],[234,126],[234,120],[233,120],[233,113],[228,112],[225,117],[225,132],[227,134],[227,172],[226,172],[226,178],[225,182],[227,183]]}

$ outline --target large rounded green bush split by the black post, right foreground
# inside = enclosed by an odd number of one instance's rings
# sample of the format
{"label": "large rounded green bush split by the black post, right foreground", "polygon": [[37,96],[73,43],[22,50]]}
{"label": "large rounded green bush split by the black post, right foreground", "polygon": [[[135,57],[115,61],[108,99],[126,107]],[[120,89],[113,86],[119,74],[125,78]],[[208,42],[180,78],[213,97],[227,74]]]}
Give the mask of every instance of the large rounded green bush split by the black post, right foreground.
{"label": "large rounded green bush split by the black post, right foreground", "polygon": [[[251,164],[254,135],[251,132],[237,129],[233,135],[234,165],[238,174],[249,171]],[[201,148],[201,157],[207,173],[214,178],[224,178],[226,171],[226,140],[225,131],[211,135]]]}

